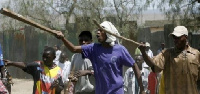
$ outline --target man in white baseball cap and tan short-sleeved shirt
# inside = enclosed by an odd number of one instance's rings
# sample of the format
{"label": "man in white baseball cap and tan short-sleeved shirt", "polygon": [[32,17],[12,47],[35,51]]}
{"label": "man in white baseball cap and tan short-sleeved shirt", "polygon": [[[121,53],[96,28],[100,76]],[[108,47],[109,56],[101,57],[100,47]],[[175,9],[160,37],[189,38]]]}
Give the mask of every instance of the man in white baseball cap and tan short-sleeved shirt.
{"label": "man in white baseball cap and tan short-sleeved shirt", "polygon": [[174,28],[170,36],[175,47],[163,50],[153,59],[145,53],[145,45],[139,49],[145,62],[154,72],[163,70],[164,94],[199,94],[200,52],[188,45],[188,30],[184,26]]}

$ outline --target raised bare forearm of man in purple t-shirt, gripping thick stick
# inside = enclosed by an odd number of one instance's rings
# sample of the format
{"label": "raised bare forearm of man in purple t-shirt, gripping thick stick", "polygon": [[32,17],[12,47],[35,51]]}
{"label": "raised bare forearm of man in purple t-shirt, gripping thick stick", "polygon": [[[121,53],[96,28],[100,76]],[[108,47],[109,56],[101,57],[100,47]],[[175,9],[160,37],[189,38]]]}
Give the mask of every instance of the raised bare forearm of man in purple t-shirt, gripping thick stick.
{"label": "raised bare forearm of man in purple t-shirt, gripping thick stick", "polygon": [[65,46],[73,53],[81,53],[81,46],[74,46],[69,40],[67,40],[61,31],[57,31],[55,37],[62,40]]}

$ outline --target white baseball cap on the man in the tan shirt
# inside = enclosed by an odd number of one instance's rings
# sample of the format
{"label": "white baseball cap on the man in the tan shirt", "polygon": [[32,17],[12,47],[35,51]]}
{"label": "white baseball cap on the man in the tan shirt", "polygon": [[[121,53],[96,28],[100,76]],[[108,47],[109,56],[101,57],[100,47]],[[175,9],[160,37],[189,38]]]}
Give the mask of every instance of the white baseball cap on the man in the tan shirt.
{"label": "white baseball cap on the man in the tan shirt", "polygon": [[174,28],[173,33],[170,33],[170,35],[174,35],[176,37],[180,37],[182,35],[188,36],[188,30],[185,26],[177,26]]}

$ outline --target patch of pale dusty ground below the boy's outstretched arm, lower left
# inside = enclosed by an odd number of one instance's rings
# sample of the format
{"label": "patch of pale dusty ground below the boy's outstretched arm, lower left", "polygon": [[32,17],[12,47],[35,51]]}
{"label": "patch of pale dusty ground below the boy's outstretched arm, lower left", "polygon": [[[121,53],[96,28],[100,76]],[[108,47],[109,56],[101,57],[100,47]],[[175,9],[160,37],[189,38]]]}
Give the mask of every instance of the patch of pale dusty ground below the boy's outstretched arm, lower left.
{"label": "patch of pale dusty ground below the boy's outstretched arm, lower left", "polygon": [[14,85],[11,87],[12,94],[32,94],[32,79],[13,79]]}

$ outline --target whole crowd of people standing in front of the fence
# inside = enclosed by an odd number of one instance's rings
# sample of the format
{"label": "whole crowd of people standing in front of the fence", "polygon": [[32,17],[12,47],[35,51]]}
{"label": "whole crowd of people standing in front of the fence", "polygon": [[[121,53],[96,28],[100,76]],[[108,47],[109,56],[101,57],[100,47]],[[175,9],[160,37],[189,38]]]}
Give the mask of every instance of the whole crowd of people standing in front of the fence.
{"label": "whole crowd of people standing in front of the fence", "polygon": [[[100,26],[120,35],[109,21]],[[161,43],[153,55],[150,43],[140,42],[134,58],[115,36],[102,29],[96,31],[99,43],[93,43],[90,31],[79,34],[79,46],[60,31],[55,37],[75,53],[71,60],[67,52],[55,45],[44,48],[42,61],[2,61],[32,75],[33,94],[199,94],[200,52],[189,46],[184,26],[175,27],[169,35],[174,47],[165,48],[165,43]],[[1,74],[3,66],[0,62]],[[130,67],[124,75],[123,66]],[[1,78],[3,86],[5,75]],[[5,89],[2,94],[7,93]]]}

